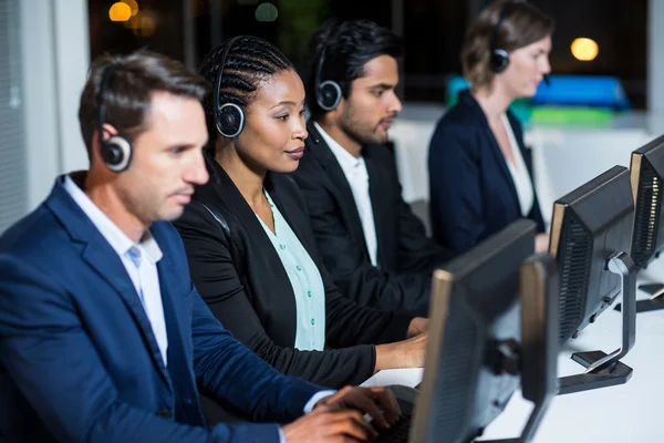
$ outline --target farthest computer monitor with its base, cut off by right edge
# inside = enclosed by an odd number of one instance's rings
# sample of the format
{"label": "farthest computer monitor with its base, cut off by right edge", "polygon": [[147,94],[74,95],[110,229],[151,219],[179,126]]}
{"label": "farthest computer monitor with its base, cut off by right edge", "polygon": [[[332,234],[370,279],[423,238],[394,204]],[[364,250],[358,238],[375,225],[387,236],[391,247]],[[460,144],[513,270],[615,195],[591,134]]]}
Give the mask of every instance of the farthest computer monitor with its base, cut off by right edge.
{"label": "farthest computer monitor with its base, cut off by right edge", "polygon": [[[643,269],[664,249],[664,218],[661,217],[664,193],[664,136],[632,153],[630,174],[634,197],[634,228],[630,255],[636,267]],[[647,284],[639,289],[652,297],[636,301],[636,312],[664,309],[664,285]],[[615,309],[621,310],[621,306],[616,306]]]}

